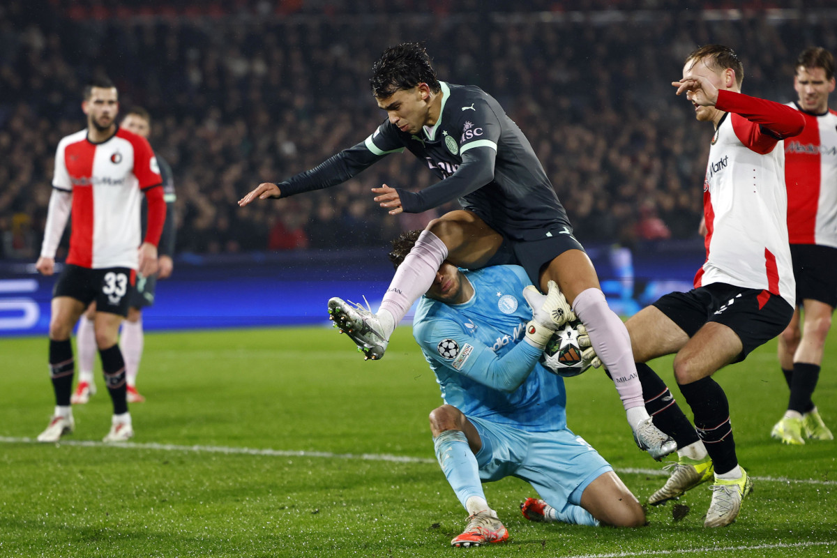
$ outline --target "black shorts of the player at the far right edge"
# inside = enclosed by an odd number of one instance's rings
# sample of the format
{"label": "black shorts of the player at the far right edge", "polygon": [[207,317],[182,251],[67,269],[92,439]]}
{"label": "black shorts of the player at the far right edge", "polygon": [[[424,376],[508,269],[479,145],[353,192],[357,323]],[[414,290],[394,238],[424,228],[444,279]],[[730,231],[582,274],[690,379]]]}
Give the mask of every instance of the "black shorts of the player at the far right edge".
{"label": "black shorts of the player at the far right edge", "polygon": [[804,299],[812,299],[837,307],[837,248],[791,244],[790,255],[796,278],[796,304],[802,306]]}

